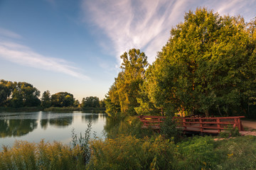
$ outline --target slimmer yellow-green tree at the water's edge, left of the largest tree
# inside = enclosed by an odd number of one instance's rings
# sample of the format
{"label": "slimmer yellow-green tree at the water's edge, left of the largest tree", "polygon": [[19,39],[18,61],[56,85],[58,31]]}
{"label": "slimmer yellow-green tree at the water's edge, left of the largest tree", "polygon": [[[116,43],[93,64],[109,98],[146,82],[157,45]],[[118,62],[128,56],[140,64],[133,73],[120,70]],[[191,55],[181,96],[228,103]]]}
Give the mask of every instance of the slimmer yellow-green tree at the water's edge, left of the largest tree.
{"label": "slimmer yellow-green tree at the water's edge, left of the largest tree", "polygon": [[148,66],[147,57],[140,50],[131,49],[120,56],[122,72],[114,79],[106,100],[107,113],[116,115],[136,115],[134,108],[139,106],[139,86],[144,81],[145,68]]}

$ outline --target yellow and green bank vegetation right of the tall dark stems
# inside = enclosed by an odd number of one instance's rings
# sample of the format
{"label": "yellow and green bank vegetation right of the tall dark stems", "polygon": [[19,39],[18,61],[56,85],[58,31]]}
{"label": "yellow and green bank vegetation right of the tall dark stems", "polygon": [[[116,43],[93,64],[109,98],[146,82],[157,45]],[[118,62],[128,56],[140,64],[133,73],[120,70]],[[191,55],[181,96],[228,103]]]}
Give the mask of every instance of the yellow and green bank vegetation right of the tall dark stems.
{"label": "yellow and green bank vegetation right of the tall dark stems", "polygon": [[89,169],[255,169],[256,137],[225,141],[191,137],[174,143],[158,137],[119,135],[93,140]]}

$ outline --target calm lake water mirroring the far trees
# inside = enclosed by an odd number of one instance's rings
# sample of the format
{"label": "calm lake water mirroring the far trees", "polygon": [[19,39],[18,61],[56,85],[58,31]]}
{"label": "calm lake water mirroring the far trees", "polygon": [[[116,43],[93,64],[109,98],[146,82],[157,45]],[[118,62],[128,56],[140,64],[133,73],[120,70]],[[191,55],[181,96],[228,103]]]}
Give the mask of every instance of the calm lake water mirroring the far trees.
{"label": "calm lake water mirroring the far trees", "polygon": [[97,137],[104,134],[105,113],[0,113],[0,148],[2,145],[12,146],[15,140],[28,142],[63,142],[70,144],[72,133],[84,135],[87,123],[92,120],[92,132]]}

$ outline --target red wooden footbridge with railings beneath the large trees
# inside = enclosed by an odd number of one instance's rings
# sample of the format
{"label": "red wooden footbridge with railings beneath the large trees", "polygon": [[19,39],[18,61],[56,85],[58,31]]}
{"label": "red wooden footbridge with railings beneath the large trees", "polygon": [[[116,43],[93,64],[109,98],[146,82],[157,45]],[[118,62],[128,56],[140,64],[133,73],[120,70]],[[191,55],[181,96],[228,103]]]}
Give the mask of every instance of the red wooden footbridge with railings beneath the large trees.
{"label": "red wooden footbridge with railings beneath the large trees", "polygon": [[[220,118],[183,118],[174,117],[176,127],[183,130],[183,132],[201,132],[203,133],[220,133],[222,130],[226,130],[229,127],[238,128],[239,131],[243,130],[242,122],[240,118],[245,116],[233,116],[233,117],[220,117]],[[165,116],[156,115],[140,115],[139,119],[142,121],[142,128],[152,128],[159,131],[161,123],[166,119]]]}

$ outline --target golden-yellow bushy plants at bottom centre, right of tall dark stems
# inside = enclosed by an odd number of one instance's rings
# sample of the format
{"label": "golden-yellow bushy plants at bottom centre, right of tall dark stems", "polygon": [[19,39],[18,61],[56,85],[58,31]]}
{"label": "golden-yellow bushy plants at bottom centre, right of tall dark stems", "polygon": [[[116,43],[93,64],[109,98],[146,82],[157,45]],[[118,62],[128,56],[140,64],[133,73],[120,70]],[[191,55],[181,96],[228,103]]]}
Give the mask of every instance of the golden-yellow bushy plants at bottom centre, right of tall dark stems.
{"label": "golden-yellow bushy plants at bottom centre, right of tall dark stems", "polygon": [[91,143],[90,169],[172,169],[174,142],[161,136],[145,140],[120,135],[116,139]]}

